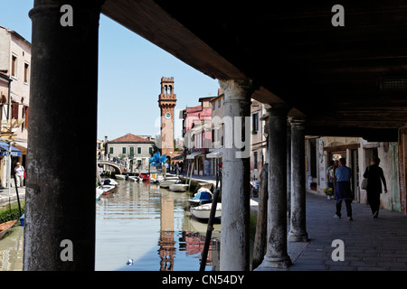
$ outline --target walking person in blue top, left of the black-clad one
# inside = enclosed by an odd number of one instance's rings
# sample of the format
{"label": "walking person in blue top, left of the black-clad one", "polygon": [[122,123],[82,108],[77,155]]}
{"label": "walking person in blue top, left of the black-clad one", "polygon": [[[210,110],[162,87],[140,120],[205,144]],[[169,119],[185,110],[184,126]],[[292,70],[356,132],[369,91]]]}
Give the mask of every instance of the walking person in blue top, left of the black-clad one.
{"label": "walking person in blue top, left of the black-clad one", "polygon": [[336,176],[336,214],[335,218],[341,219],[342,200],[345,200],[347,218],[353,220],[352,217],[352,200],[354,196],[350,187],[350,178],[352,170],[346,166],[344,157],[339,159],[338,168],[335,170]]}

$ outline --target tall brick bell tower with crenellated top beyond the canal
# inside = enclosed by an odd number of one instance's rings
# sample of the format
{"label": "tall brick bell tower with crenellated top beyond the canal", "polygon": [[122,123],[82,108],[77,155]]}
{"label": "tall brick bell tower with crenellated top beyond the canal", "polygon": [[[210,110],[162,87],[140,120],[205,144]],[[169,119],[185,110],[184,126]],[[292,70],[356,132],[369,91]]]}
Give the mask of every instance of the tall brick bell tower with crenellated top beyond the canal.
{"label": "tall brick bell tower with crenellated top beyond the canal", "polygon": [[161,108],[161,154],[171,157],[174,153],[174,78],[161,78],[161,94],[158,107]]}

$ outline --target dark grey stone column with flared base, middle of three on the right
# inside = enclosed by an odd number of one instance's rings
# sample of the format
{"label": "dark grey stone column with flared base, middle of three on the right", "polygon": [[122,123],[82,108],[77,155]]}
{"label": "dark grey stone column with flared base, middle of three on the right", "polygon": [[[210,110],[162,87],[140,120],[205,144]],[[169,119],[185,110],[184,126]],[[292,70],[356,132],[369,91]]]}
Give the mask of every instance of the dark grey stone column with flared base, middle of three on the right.
{"label": "dark grey stone column with flared base, middle of three on the right", "polygon": [[267,254],[264,268],[288,268],[287,252],[287,105],[274,105],[269,114],[269,203]]}

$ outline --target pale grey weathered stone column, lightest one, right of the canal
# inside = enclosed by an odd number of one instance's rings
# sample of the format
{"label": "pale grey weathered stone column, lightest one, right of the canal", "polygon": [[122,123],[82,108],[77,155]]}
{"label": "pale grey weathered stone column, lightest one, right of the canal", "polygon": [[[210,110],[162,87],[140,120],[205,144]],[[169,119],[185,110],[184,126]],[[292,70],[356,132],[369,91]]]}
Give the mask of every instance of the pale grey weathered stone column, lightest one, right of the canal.
{"label": "pale grey weathered stone column, lightest one, right of the canal", "polygon": [[[250,268],[250,80],[220,80],[224,92],[221,270]],[[244,140],[244,143],[242,143]],[[244,146],[242,145],[244,144]]]}

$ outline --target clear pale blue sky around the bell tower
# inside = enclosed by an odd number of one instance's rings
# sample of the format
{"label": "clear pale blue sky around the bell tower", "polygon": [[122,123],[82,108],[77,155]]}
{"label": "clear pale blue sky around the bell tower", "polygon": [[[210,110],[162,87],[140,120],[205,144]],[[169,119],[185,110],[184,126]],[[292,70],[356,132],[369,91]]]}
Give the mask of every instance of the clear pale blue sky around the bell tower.
{"label": "clear pale blue sky around the bell tower", "polygon": [[[0,0],[0,26],[31,42],[28,12],[33,0]],[[99,25],[98,138],[132,133],[159,133],[157,105],[161,77],[174,77],[177,104],[175,137],[181,135],[179,110],[198,105],[198,98],[215,96],[219,83],[147,42],[103,14]]]}

